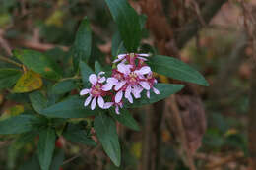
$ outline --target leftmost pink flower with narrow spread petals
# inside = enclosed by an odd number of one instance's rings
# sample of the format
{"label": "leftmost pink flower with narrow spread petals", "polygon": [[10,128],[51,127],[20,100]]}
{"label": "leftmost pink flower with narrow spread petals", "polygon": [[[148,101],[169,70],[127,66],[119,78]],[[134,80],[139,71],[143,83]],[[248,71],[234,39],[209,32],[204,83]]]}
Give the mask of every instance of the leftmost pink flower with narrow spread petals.
{"label": "leftmost pink flower with narrow spread petals", "polygon": [[106,95],[107,90],[103,90],[102,86],[103,86],[103,82],[105,82],[105,77],[101,77],[101,75],[103,75],[104,72],[100,72],[98,74],[98,76],[96,76],[96,74],[91,74],[89,76],[89,81],[92,84],[91,88],[87,89],[83,89],[80,91],[80,95],[86,95],[89,94],[89,97],[86,99],[84,105],[88,106],[89,103],[92,100],[91,103],[91,109],[94,110],[96,108],[96,103],[98,104],[98,106],[100,108],[104,109],[104,99],[103,96]]}

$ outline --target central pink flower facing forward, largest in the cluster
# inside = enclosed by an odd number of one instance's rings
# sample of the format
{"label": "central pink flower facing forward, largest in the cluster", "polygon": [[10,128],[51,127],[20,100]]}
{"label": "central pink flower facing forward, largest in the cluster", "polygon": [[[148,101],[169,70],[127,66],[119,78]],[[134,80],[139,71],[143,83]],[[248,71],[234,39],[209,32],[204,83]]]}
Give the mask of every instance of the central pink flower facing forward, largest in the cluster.
{"label": "central pink flower facing forward, largest in the cluster", "polygon": [[150,84],[145,80],[146,74],[151,72],[149,66],[143,66],[139,70],[134,70],[132,65],[120,63],[117,65],[118,74],[121,75],[119,82],[115,84],[114,90],[118,91],[115,95],[115,102],[119,103],[122,100],[123,94],[130,103],[133,103],[133,97],[141,97],[143,89],[150,90]]}

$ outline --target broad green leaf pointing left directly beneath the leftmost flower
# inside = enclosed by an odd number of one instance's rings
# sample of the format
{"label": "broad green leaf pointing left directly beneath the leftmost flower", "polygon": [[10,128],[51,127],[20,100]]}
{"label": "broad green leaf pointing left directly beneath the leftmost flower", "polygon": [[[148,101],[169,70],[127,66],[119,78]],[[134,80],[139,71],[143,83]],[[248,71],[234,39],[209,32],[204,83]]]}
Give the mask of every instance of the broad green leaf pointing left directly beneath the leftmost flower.
{"label": "broad green leaf pointing left directly beneath the leftmost flower", "polygon": [[51,105],[41,111],[41,114],[53,118],[85,118],[95,115],[96,111],[84,106],[84,99],[71,96],[64,101]]}

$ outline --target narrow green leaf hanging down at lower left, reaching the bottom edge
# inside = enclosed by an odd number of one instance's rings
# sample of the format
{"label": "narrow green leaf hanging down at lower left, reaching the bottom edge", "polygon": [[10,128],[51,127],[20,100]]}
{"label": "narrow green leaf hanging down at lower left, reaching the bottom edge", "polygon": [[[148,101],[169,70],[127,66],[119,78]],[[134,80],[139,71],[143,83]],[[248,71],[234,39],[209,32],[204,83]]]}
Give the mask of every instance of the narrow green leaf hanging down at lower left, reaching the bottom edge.
{"label": "narrow green leaf hanging down at lower left, reaching the bottom edge", "polygon": [[50,127],[39,133],[37,155],[42,170],[49,170],[55,148],[56,135]]}

